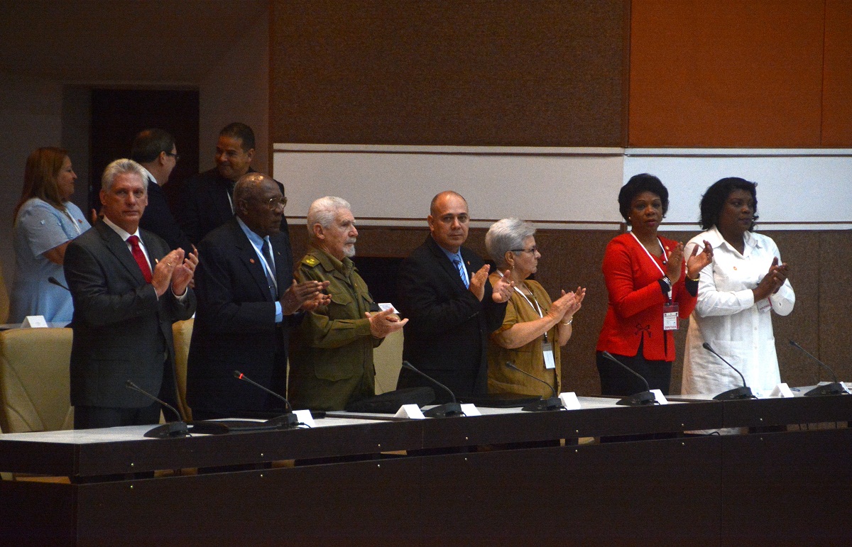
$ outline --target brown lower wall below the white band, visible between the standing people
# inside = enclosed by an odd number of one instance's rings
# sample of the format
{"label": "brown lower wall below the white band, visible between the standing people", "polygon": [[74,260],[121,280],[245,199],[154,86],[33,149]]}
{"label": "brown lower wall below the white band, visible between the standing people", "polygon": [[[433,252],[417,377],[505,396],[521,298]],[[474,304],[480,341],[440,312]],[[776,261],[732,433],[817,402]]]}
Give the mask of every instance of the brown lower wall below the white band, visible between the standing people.
{"label": "brown lower wall below the white band, visible between the standing people", "polygon": [[[425,222],[424,222],[425,225]],[[683,241],[694,232],[666,232]],[[413,227],[359,227],[359,256],[407,256],[423,243],[428,229]],[[470,230],[468,245],[486,256],[484,228]],[[573,337],[562,350],[562,388],[580,395],[600,394],[595,365],[595,347],[607,314],[607,288],[601,263],[607,243],[618,232],[600,230],[539,230],[536,243],[541,248],[536,279],[556,297],[559,289],[571,291],[586,287],[583,308],[574,321]],[[767,232],[790,265],[790,281],[796,291],[796,307],[786,317],[774,316],[775,346],[780,361],[781,381],[791,386],[816,382],[819,371],[806,357],[792,348],[792,338],[835,368],[843,380],[852,381],[852,319],[849,315],[849,287],[852,286],[852,231]],[[306,247],[301,226],[291,230],[293,254],[301,258]],[[688,321],[676,333],[677,359],[672,370],[671,393],[680,393],[683,346]],[[828,380],[825,373],[822,380]]]}

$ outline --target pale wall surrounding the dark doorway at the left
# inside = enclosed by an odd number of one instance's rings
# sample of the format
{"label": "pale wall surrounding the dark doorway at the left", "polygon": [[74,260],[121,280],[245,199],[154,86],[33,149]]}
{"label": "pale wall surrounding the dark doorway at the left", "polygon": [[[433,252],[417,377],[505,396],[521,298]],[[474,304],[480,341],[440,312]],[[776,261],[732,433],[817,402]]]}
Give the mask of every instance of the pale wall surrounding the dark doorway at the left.
{"label": "pale wall surrounding the dark doorway at the left", "polygon": [[[230,49],[199,81],[105,81],[97,66],[92,66],[88,74],[78,74],[73,83],[0,72],[0,263],[9,290],[14,276],[12,211],[20,199],[26,157],[37,147],[68,148],[79,177],[72,200],[81,207],[86,203],[89,127],[81,109],[88,107],[85,103],[92,87],[198,85],[201,169],[213,166],[216,135],[233,121],[249,124],[255,130],[257,153],[253,165],[256,170],[270,169],[267,14],[262,12],[246,21],[245,27],[247,32],[231,41]],[[193,55],[193,48],[181,55]]]}

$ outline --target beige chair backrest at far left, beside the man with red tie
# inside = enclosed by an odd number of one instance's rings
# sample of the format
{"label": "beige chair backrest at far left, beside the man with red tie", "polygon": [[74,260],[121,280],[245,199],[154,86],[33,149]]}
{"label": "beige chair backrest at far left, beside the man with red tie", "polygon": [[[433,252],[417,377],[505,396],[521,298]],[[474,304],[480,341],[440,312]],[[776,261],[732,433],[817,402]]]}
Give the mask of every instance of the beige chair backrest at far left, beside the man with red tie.
{"label": "beige chair backrest at far left, beside the man with red tie", "polygon": [[0,428],[5,433],[71,429],[72,330],[0,332]]}

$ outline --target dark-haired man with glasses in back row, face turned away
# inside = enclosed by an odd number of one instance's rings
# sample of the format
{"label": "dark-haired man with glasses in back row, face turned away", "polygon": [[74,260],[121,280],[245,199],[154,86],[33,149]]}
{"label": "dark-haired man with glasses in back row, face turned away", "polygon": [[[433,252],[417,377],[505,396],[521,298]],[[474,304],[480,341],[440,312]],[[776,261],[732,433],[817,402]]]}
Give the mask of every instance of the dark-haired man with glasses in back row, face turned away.
{"label": "dark-haired man with glasses in back row, face turned away", "polygon": [[177,164],[175,137],[164,130],[142,130],[133,139],[130,159],[145,168],[148,179],[148,204],[139,226],[165,239],[170,249],[193,251],[187,234],[171,214],[162,186],[169,181]]}

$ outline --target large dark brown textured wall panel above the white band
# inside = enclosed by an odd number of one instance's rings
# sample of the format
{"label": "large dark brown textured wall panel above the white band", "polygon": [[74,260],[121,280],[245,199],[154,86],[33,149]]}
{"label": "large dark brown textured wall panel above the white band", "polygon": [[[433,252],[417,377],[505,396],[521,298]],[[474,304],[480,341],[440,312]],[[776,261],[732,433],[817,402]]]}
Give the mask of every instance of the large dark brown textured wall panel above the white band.
{"label": "large dark brown textured wall panel above the white band", "polygon": [[625,143],[627,0],[273,0],[273,142]]}

